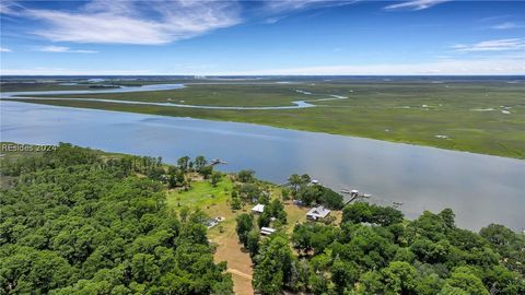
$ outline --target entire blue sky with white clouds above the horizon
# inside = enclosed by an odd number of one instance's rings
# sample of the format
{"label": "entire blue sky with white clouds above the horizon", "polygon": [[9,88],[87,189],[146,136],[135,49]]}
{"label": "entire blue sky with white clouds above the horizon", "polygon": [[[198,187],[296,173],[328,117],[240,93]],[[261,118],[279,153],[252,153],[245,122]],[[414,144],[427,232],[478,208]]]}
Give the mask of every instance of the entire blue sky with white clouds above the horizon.
{"label": "entire blue sky with white clouds above the horizon", "polygon": [[524,1],[9,1],[1,74],[525,74]]}

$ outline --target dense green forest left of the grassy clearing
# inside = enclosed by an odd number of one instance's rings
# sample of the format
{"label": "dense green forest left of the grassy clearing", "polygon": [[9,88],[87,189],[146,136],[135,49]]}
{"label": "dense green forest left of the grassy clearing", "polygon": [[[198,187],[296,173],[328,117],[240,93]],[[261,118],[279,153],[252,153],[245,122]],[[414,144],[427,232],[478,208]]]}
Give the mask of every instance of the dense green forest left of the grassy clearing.
{"label": "dense green forest left of the grassy clearing", "polygon": [[69,144],[3,161],[0,294],[232,294],[206,216],[165,205],[159,178],[187,181],[163,172]]}

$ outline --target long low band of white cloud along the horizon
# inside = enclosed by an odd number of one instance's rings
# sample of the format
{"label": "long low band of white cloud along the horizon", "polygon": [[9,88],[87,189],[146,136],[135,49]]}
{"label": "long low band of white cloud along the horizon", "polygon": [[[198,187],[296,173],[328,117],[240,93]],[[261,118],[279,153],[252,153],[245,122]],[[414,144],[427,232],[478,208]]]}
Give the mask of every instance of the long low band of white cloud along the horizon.
{"label": "long low band of white cloud along the horizon", "polygon": [[253,71],[212,72],[210,67],[179,69],[177,72],[154,70],[85,70],[63,68],[2,69],[1,74],[12,75],[160,75],[160,74],[202,74],[202,75],[477,75],[477,74],[525,74],[525,56],[494,59],[446,59],[418,63],[371,63],[361,66],[318,66]]}

